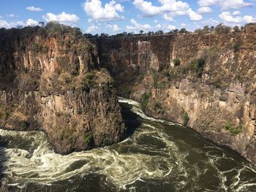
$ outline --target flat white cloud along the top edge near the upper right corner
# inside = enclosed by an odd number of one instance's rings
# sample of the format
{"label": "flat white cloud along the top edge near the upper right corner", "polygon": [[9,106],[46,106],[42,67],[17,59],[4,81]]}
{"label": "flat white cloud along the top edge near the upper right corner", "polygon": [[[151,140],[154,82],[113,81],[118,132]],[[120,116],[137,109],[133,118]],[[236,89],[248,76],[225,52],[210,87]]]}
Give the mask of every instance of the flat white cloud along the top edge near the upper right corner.
{"label": "flat white cloud along the top edge near the upper right corner", "polygon": [[252,3],[248,3],[244,0],[199,0],[197,3],[200,7],[217,5],[222,7],[222,10],[239,9],[241,7],[252,6]]}

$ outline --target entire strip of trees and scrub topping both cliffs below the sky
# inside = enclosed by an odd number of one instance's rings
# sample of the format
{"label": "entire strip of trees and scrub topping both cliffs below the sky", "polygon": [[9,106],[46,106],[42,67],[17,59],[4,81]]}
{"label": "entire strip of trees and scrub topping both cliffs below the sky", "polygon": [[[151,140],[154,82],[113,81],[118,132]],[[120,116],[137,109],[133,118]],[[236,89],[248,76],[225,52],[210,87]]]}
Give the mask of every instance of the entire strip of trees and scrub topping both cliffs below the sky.
{"label": "entire strip of trees and scrub topping both cliffs below the sky", "polygon": [[[245,31],[245,28],[247,28],[248,26],[252,26],[256,28],[256,23],[248,23],[245,26],[234,26],[233,28],[229,27],[229,26],[224,26],[222,25],[222,23],[220,23],[217,26],[204,26],[203,28],[198,28],[194,31],[194,33],[197,34],[209,34],[209,33],[216,33],[216,34],[228,34],[230,31],[234,31],[236,33],[238,32],[243,32]],[[121,34],[106,34],[106,33],[102,33],[102,34],[83,34],[80,31],[80,28],[76,28],[76,27],[70,27],[70,26],[65,26],[62,25],[56,21],[51,21],[48,23],[44,23],[44,22],[39,22],[38,26],[26,26],[24,28],[11,28],[11,29],[6,29],[6,28],[0,28],[0,34],[4,35],[4,34],[32,34],[32,33],[38,33],[39,35],[47,35],[47,36],[56,36],[56,35],[63,35],[63,34],[73,34],[75,37],[86,37],[86,38],[94,38],[94,39],[98,39],[98,38],[116,38],[116,37],[140,37],[140,36],[157,36],[157,35],[167,35],[167,34],[191,34],[193,32],[191,31],[187,31],[186,28],[181,28],[180,30],[178,29],[174,29],[172,31],[169,31],[167,33],[165,33],[162,30],[159,31],[148,31],[147,33],[144,32],[143,30],[140,30],[140,33],[135,34],[135,33],[127,33],[126,31],[124,31]]]}

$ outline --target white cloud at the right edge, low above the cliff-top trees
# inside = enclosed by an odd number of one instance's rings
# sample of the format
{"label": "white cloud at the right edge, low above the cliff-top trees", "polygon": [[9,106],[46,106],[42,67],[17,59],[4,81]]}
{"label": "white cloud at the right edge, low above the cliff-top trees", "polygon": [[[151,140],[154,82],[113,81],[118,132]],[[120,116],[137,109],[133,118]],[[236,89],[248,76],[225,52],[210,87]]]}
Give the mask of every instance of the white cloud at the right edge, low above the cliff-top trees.
{"label": "white cloud at the right edge, low above the cliff-top trees", "polygon": [[251,15],[233,16],[230,12],[222,12],[219,18],[225,21],[225,23],[253,23],[256,21]]}

